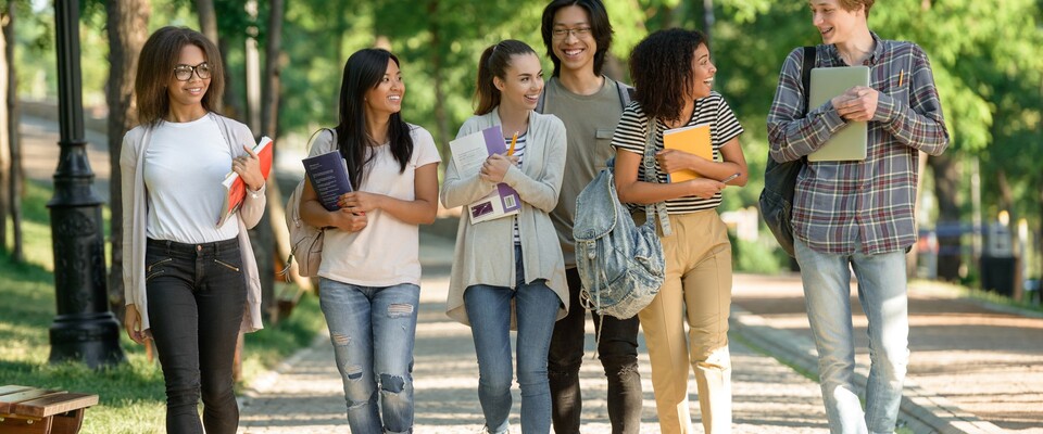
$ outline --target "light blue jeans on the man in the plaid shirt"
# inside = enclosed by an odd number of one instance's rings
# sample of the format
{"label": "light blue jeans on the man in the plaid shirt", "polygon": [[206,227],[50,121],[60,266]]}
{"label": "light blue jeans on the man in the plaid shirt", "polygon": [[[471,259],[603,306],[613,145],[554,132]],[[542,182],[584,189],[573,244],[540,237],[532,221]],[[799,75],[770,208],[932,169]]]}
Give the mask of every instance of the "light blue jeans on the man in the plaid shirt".
{"label": "light blue jeans on the man in the plaid shirt", "polygon": [[[795,240],[807,318],[818,347],[819,383],[830,432],[893,433],[909,361],[905,253],[835,255]],[[851,271],[869,322],[869,382],[863,411],[852,383],[855,369]]]}

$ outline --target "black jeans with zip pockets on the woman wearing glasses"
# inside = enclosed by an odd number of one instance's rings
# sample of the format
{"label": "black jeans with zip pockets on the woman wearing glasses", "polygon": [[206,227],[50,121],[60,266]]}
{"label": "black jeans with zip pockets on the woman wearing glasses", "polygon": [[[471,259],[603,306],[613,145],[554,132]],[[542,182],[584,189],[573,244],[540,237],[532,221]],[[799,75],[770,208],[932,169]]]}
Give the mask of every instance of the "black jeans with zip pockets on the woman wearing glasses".
{"label": "black jeans with zip pockets on the woman wearing glasses", "polygon": [[149,240],[144,263],[149,322],[166,382],[166,432],[202,434],[205,425],[208,434],[235,434],[231,368],[247,302],[238,240]]}

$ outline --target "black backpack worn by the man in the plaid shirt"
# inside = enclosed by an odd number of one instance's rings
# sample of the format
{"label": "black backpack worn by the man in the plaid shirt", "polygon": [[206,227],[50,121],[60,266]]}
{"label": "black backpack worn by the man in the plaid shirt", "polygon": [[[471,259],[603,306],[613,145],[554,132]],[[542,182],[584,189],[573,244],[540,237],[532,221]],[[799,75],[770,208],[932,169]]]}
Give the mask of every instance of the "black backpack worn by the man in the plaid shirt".
{"label": "black backpack worn by the man in the plaid shirt", "polygon": [[[804,47],[804,63],[801,66],[801,84],[804,86],[804,113],[808,110],[808,93],[812,82],[812,68],[815,67],[815,47]],[[792,257],[793,225],[790,218],[793,213],[793,189],[796,187],[796,176],[807,165],[807,157],[787,163],[777,163],[768,156],[768,164],[764,167],[764,190],[761,192],[761,217],[771,230],[771,234]]]}

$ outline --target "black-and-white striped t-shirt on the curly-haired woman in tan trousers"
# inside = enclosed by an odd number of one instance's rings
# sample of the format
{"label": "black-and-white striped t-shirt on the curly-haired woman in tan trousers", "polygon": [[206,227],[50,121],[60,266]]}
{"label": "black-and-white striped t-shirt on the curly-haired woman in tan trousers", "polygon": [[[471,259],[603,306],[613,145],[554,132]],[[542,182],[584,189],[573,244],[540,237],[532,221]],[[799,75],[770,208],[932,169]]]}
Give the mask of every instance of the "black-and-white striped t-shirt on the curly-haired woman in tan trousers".
{"label": "black-and-white striped t-shirt on the curly-haired woman in tan trousers", "polygon": [[[663,131],[667,129],[663,120],[656,119],[659,126],[655,133],[655,150],[663,150]],[[739,125],[739,119],[731,112],[731,107],[725,102],[724,97],[717,92],[709,92],[709,97],[695,100],[695,110],[692,111],[692,117],[688,119],[686,126],[709,124],[709,140],[714,149],[714,161],[720,162],[720,146],[728,143],[741,135],[743,129]],[[633,152],[644,155],[644,144],[649,133],[649,117],[641,110],[641,104],[637,101],[631,102],[623,111],[623,117],[619,118],[619,125],[616,126],[616,133],[612,138],[612,146],[617,150]],[[658,162],[655,163],[655,176],[661,183],[667,183],[667,174],[659,168]],[[638,167],[638,180],[645,181],[644,169]],[[670,199],[666,201],[666,212],[668,214],[687,214],[703,209],[713,209],[720,205],[720,192],[711,199],[699,199],[696,196],[684,196]]]}

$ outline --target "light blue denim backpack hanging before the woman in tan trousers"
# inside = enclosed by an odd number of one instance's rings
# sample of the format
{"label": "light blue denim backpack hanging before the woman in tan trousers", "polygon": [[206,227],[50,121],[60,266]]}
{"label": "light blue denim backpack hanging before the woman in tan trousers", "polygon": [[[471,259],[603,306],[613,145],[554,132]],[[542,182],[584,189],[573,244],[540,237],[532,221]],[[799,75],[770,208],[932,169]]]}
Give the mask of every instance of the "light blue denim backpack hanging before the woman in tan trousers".
{"label": "light blue denim backpack hanging before the woman in tan trousers", "polygon": [[[654,166],[656,123],[651,119],[644,146],[643,169],[649,182],[656,182]],[[613,176],[615,158],[576,197],[573,237],[576,239],[576,268],[583,283],[583,307],[601,316],[628,319],[652,303],[665,275],[665,259],[655,216],[663,233],[671,233],[662,202],[645,206],[645,222],[637,226],[626,205],[619,203]]]}

